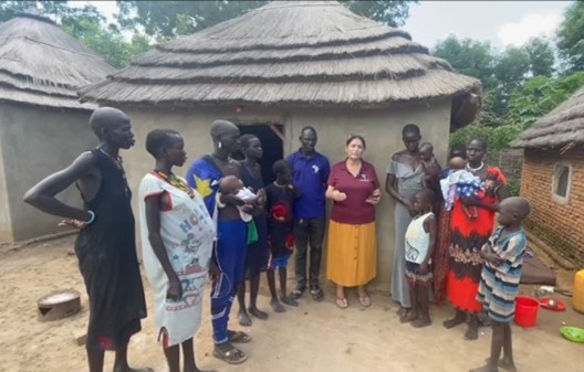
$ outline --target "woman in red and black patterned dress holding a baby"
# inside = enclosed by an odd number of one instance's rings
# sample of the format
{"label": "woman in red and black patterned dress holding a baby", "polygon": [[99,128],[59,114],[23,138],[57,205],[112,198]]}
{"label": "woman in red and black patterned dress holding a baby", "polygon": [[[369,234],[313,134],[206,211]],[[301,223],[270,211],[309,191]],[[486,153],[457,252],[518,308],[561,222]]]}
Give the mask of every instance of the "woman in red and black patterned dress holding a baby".
{"label": "woman in red and black patterned dress holding a baby", "polygon": [[[444,326],[452,328],[469,320],[467,340],[478,338],[478,313],[482,305],[477,301],[482,261],[479,252],[494,228],[494,213],[499,201],[508,196],[507,179],[497,167],[484,164],[487,141],[473,139],[467,146],[467,170],[484,181],[484,192],[478,198],[457,200],[450,212],[450,269],[447,279],[448,299],[456,308],[456,316]],[[478,216],[469,219],[466,205],[478,206]]]}

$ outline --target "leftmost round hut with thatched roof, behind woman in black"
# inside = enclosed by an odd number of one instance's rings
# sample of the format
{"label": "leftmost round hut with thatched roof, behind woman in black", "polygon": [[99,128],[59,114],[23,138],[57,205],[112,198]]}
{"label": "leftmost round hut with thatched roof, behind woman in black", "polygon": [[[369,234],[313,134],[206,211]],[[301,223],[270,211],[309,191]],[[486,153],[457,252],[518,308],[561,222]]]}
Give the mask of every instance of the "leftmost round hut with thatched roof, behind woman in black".
{"label": "leftmost round hut with thatched roof, behind woman in black", "polygon": [[[112,72],[48,19],[20,14],[0,24],[0,242],[62,230],[22,194],[94,141],[87,119],[96,105],[81,104],[76,91]],[[62,198],[79,202],[77,194]]]}

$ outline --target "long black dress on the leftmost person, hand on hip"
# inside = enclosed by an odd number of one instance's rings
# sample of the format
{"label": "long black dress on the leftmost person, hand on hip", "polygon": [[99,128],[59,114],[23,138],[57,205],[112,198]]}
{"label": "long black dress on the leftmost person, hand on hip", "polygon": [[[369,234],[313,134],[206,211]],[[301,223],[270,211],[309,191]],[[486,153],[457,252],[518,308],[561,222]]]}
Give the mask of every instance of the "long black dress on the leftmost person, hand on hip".
{"label": "long black dress on the leftmost person, hand on hip", "polygon": [[101,150],[93,150],[102,184],[87,210],[95,221],[75,242],[81,275],[90,298],[87,348],[117,350],[142,329],[146,301],[136,255],[132,193],[124,170]]}

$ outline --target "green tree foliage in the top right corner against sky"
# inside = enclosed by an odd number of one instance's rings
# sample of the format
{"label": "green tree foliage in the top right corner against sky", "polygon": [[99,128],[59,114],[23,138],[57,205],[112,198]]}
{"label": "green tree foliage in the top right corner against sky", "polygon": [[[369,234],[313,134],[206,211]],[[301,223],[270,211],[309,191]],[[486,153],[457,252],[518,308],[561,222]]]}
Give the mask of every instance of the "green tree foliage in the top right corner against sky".
{"label": "green tree foliage in the top right corner against sky", "polygon": [[557,29],[557,49],[569,73],[584,71],[584,2],[574,1]]}

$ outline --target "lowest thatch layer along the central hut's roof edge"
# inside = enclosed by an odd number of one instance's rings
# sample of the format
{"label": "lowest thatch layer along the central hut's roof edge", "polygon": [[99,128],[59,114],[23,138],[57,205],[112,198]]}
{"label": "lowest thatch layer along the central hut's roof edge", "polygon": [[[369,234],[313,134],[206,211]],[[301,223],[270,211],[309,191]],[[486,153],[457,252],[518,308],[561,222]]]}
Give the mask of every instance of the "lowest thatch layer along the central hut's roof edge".
{"label": "lowest thatch layer along the central hut's roof edge", "polygon": [[480,82],[451,72],[434,70],[421,76],[403,81],[375,79],[305,83],[237,83],[190,85],[143,85],[104,81],[79,92],[84,100],[117,104],[157,104],[185,102],[187,105],[207,103],[246,103],[272,105],[303,103],[305,106],[325,103],[331,106],[384,105],[386,102],[408,102],[434,97],[450,97],[460,93],[480,92]]}

